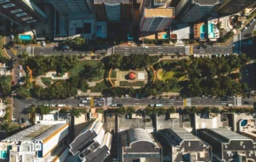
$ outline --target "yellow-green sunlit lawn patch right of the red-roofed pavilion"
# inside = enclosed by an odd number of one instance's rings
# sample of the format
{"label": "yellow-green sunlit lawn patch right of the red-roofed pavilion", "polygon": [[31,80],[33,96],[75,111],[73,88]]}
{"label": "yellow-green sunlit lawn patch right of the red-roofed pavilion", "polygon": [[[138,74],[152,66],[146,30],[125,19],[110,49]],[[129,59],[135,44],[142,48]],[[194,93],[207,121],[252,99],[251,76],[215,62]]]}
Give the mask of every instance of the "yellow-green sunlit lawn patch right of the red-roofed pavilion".
{"label": "yellow-green sunlit lawn patch right of the red-roofed pavilion", "polygon": [[186,77],[183,76],[180,73],[176,73],[175,71],[169,70],[169,71],[165,71],[165,70],[158,70],[158,78],[160,80],[167,80],[169,78],[172,77],[176,77],[179,81],[184,80]]}

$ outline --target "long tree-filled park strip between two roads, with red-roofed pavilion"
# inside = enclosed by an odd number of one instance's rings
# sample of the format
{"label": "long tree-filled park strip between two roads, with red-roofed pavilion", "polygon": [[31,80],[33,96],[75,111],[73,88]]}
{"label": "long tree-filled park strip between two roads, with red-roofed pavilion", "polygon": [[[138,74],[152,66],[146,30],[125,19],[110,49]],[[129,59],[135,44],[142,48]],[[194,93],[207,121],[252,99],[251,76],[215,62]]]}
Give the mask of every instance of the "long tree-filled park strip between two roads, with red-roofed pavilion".
{"label": "long tree-filled park strip between two roads, with red-roofed pavilion", "polygon": [[74,55],[27,57],[23,67],[29,66],[33,77],[40,77],[45,86],[36,82],[28,92],[30,85],[25,84],[18,94],[25,97],[29,93],[39,99],[65,99],[78,92],[112,97],[148,97],[164,92],[193,97],[243,95],[248,92],[246,84],[250,82],[244,79],[253,70],[251,65],[245,66],[248,58],[243,54],[190,56],[182,60],[159,60],[158,55],[146,54],[114,54],[101,59]]}

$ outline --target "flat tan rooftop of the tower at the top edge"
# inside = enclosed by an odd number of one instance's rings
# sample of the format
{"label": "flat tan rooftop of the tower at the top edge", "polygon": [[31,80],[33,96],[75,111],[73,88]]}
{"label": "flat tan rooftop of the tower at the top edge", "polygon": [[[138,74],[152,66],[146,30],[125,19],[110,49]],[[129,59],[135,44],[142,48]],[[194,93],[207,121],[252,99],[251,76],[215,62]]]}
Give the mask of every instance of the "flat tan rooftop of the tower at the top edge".
{"label": "flat tan rooftop of the tower at the top edge", "polygon": [[175,15],[174,9],[158,8],[158,9],[144,9],[144,17],[167,17],[172,18]]}

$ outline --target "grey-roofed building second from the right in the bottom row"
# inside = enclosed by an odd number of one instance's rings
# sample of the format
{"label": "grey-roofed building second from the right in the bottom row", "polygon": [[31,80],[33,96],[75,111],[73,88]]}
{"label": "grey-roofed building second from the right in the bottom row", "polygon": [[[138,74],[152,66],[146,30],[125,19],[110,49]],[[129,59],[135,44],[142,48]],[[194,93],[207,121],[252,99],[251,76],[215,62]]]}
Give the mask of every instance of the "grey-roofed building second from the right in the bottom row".
{"label": "grey-roofed building second from the right in the bottom row", "polygon": [[162,129],[158,139],[172,162],[212,161],[211,146],[186,129]]}

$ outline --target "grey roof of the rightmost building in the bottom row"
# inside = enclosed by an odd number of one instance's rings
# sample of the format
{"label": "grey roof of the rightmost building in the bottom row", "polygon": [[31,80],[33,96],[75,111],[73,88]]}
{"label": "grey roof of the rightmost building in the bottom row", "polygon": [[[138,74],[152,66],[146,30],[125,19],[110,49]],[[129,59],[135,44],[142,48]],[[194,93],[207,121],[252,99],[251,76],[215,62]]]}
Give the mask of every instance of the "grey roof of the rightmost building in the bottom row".
{"label": "grey roof of the rightmost building in the bottom row", "polygon": [[215,134],[215,138],[218,138],[221,142],[223,143],[229,143],[230,140],[251,140],[250,138],[246,137],[246,136],[242,136],[236,132],[233,132],[229,129],[224,129],[224,128],[220,128],[220,129],[206,129],[206,131],[204,131],[208,134],[212,134],[212,136],[214,136]]}

